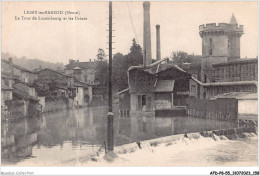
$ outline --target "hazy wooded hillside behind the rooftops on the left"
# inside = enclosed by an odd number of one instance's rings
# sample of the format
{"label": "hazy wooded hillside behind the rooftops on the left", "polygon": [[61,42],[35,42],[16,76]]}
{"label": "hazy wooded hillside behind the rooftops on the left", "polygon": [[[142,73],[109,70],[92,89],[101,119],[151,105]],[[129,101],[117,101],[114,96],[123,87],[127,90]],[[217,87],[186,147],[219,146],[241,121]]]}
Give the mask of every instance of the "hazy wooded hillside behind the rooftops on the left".
{"label": "hazy wooded hillside behind the rooftops on the left", "polygon": [[63,70],[64,65],[63,63],[52,63],[52,62],[46,62],[40,59],[27,59],[26,57],[17,58],[14,55],[11,55],[9,53],[1,53],[1,58],[8,60],[9,57],[12,57],[13,63],[20,65],[28,70],[33,70],[35,68],[39,68],[41,66],[42,69],[44,68],[50,68],[50,69],[59,69]]}

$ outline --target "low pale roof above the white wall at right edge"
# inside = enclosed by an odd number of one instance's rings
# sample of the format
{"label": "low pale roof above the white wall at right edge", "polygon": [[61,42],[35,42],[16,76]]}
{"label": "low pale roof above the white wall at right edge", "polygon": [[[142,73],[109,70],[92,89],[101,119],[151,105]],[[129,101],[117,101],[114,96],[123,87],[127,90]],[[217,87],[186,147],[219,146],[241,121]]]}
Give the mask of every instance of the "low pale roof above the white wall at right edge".
{"label": "low pale roof above the white wall at right edge", "polygon": [[229,92],[212,97],[210,98],[210,100],[216,100],[219,98],[235,98],[237,100],[258,100],[258,95],[257,93],[250,92]]}

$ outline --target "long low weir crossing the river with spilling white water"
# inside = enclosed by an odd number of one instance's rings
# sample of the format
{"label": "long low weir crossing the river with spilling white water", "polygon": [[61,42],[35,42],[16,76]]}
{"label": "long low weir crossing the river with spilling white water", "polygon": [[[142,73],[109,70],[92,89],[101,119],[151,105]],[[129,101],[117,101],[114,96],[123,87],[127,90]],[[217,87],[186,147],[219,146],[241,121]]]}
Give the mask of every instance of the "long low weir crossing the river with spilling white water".
{"label": "long low weir crossing the river with spilling white water", "polygon": [[[172,136],[166,136],[156,139],[144,140],[139,142],[134,142],[130,144],[125,144],[122,146],[117,146],[114,148],[116,154],[126,154],[132,153],[137,150],[145,149],[150,150],[153,152],[152,147],[159,146],[164,144],[165,147],[178,143],[193,143],[194,140],[202,140],[208,141],[211,139],[213,141],[221,141],[221,140],[234,140],[238,138],[248,138],[248,137],[256,137],[257,136],[257,128],[256,127],[241,127],[241,128],[231,128],[231,129],[221,129],[221,130],[214,130],[214,131],[201,131],[198,133],[185,133],[185,134],[178,134]],[[200,146],[198,146],[200,147]],[[79,163],[88,163],[88,162],[99,162],[100,155],[104,153],[101,150],[97,152],[93,152],[89,155],[82,156],[80,158],[74,158],[67,161],[63,161],[61,163],[55,163],[54,165],[78,165]]]}

